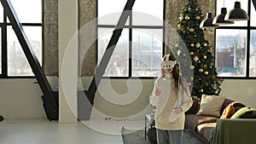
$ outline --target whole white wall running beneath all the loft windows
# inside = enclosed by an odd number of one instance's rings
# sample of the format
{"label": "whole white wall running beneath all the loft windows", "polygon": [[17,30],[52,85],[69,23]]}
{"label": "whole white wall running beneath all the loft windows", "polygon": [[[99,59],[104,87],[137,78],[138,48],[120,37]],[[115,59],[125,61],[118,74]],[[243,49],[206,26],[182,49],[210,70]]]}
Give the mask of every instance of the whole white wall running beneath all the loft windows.
{"label": "whole white wall running beneath all the loft windows", "polygon": [[[18,78],[18,79],[0,79],[0,113],[5,118],[46,118],[44,113],[43,102],[41,100],[41,89],[38,84],[34,84],[36,80],[33,78]],[[57,89],[57,78],[49,78],[52,88]],[[99,93],[96,94],[95,106],[96,109],[92,112],[92,118],[106,118],[107,116],[121,116],[126,118],[139,112],[140,108],[143,108],[148,102],[148,94],[151,92],[151,88],[154,80],[143,80],[142,95],[139,96],[135,102],[130,105],[113,105],[105,101]],[[84,79],[84,83],[90,83],[90,79]],[[137,82],[136,82],[137,83]],[[87,84],[87,86],[88,86]],[[108,84],[107,81],[103,81],[103,84]],[[113,81],[113,89],[119,89],[116,92],[119,94],[125,94],[127,87],[123,87],[125,82],[121,80]],[[102,85],[103,86],[103,85]],[[101,86],[101,87],[102,87]],[[222,85],[222,95],[234,99],[236,101],[244,102],[248,107],[256,108],[256,80],[237,80],[237,79],[225,79]],[[86,87],[86,84],[84,84]],[[105,87],[108,88],[108,87]],[[124,88],[125,92],[122,92]],[[104,89],[104,87],[102,87]],[[104,95],[108,96],[108,95]],[[129,95],[127,95],[129,97]],[[134,95],[131,95],[133,97]],[[113,95],[109,95],[108,99],[112,99]],[[125,101],[132,101],[132,98],[124,98]],[[119,98],[119,102],[122,102]],[[96,112],[99,110],[99,112]],[[104,113],[102,115],[102,112]],[[118,113],[119,112],[119,113]],[[143,115],[138,115],[136,118],[143,118]]]}

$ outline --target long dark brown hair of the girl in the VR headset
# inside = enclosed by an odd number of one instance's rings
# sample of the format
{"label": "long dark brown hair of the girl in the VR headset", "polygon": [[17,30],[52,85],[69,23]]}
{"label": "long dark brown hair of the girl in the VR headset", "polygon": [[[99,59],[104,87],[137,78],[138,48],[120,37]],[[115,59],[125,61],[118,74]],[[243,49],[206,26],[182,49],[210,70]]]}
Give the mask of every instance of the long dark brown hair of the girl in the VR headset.
{"label": "long dark brown hair of the girl in the VR headset", "polygon": [[[164,55],[162,60],[166,60],[167,56]],[[169,56],[169,60],[173,60],[175,61],[176,58],[174,55],[170,55]],[[166,77],[166,74],[165,74],[165,70],[163,68],[160,68],[160,77],[161,78],[165,78]],[[174,81],[175,81],[175,89],[178,88],[178,78],[179,78],[179,69],[178,69],[178,64],[176,64],[174,67],[173,67],[173,70],[172,70],[172,77],[174,78]]]}

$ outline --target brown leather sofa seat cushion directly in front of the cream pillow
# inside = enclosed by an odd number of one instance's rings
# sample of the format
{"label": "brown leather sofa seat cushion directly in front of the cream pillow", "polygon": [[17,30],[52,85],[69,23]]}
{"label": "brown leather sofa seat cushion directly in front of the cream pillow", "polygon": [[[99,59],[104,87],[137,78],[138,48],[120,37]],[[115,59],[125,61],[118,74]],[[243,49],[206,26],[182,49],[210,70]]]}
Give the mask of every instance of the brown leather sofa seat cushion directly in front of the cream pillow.
{"label": "brown leather sofa seat cushion directly in front of the cream pillow", "polygon": [[217,117],[187,114],[185,118],[185,123],[189,126],[190,129],[196,130],[197,125],[206,123],[216,123],[217,119]]}

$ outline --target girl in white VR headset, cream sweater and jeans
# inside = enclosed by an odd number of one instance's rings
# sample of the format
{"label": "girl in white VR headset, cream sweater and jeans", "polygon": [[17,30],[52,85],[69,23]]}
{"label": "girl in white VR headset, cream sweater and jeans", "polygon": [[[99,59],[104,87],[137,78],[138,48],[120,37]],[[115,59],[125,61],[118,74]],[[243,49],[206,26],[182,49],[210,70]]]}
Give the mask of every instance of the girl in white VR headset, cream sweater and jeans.
{"label": "girl in white VR headset, cream sweater and jeans", "polygon": [[173,55],[162,58],[160,77],[154,82],[149,102],[156,107],[155,127],[158,144],[181,144],[184,112],[192,106],[189,86],[181,78]]}

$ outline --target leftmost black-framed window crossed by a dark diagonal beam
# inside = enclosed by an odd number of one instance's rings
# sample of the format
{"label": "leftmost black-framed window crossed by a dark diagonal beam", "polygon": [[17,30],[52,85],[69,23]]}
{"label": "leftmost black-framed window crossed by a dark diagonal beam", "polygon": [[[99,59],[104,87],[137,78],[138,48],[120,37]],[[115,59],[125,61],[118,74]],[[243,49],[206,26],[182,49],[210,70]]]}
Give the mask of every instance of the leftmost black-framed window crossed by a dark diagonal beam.
{"label": "leftmost black-framed window crossed by a dark diagonal beam", "polygon": [[[42,64],[42,0],[10,0],[20,20],[32,51]],[[1,78],[33,77],[31,66],[0,4],[0,75]]]}

